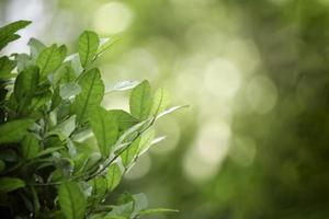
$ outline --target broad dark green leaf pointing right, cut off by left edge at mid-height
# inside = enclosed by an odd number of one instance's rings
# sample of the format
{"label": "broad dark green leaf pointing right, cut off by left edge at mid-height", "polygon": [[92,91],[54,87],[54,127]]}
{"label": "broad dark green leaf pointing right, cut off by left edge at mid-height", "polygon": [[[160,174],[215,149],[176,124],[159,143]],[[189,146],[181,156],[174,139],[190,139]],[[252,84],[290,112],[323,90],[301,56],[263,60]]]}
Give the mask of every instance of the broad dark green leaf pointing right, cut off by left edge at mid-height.
{"label": "broad dark green leaf pointing right, cut off by left edge at mid-height", "polygon": [[32,119],[20,119],[0,125],[0,143],[19,142],[32,124],[34,124]]}

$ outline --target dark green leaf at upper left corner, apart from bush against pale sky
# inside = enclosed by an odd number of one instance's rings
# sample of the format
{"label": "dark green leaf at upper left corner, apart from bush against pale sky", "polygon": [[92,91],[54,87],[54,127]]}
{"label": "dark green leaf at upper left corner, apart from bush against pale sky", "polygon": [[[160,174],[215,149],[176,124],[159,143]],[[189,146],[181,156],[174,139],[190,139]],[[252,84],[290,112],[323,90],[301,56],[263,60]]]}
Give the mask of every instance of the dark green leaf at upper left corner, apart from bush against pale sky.
{"label": "dark green leaf at upper left corner, apart from bush against pale sky", "polygon": [[10,42],[20,38],[20,35],[15,34],[19,30],[24,28],[31,24],[31,21],[16,21],[5,26],[0,27],[0,50],[7,46]]}

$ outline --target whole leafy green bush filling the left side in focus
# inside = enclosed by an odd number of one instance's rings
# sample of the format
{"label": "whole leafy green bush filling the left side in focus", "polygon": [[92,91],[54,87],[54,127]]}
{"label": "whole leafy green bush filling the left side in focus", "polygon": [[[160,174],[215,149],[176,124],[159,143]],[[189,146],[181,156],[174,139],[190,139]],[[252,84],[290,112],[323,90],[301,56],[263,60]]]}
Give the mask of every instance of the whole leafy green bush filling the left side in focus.
{"label": "whole leafy green bush filling the left side in focus", "polygon": [[[0,28],[0,50],[31,22]],[[151,94],[148,81],[120,82],[112,91],[133,89],[129,110],[101,106],[104,84],[95,59],[113,41],[100,43],[90,31],[79,37],[78,54],[65,45],[29,42],[31,53],[0,58],[0,205],[10,218],[133,219],[147,209],[143,194],[106,197],[139,155],[163,138],[155,122],[166,110],[163,89]],[[94,136],[98,147],[86,141]]]}

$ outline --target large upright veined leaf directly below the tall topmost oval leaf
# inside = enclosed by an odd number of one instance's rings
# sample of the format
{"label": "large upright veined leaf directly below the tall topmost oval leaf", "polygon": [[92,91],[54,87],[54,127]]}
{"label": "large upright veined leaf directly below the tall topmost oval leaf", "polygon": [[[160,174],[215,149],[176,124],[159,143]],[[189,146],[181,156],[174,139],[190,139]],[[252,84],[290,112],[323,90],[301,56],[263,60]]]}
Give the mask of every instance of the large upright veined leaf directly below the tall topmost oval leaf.
{"label": "large upright veined leaf directly below the tall topmost oval leaf", "polygon": [[104,84],[98,69],[91,69],[80,79],[81,93],[76,97],[73,111],[78,124],[83,124],[90,112],[99,106],[104,96]]}

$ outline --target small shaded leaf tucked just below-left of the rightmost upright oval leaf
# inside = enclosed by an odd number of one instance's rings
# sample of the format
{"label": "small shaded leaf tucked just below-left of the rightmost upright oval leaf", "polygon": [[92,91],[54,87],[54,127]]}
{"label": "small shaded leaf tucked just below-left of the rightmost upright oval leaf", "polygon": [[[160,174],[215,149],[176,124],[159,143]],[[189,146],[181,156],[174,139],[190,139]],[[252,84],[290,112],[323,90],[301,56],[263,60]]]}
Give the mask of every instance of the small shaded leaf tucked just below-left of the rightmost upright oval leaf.
{"label": "small shaded leaf tucked just below-left of the rightmost upright oval leaf", "polygon": [[116,119],[120,131],[124,131],[138,123],[137,118],[123,110],[111,110],[107,112]]}

